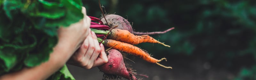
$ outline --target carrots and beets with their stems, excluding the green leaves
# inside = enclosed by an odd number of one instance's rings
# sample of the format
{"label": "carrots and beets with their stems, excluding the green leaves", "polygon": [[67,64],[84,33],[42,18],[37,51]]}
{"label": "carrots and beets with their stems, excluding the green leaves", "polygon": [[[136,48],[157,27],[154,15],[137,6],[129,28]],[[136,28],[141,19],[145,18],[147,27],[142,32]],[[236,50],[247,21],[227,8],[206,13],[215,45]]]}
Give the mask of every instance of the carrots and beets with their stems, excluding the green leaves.
{"label": "carrots and beets with their stems, excluding the green leaves", "polygon": [[104,16],[104,18],[101,20],[95,17],[90,18],[92,21],[94,21],[91,22],[91,31],[96,33],[99,43],[108,48],[106,50],[106,53],[108,53],[108,63],[98,67],[100,71],[106,74],[122,76],[130,80],[137,80],[137,78],[134,76],[136,74],[132,71],[132,69],[125,67],[123,56],[120,52],[138,56],[143,60],[156,63],[157,65],[160,65],[164,68],[172,68],[158,63],[162,60],[166,60],[166,58],[159,60],[155,59],[151,57],[146,51],[134,45],[140,43],[157,43],[170,47],[169,45],[161,43],[153,37],[145,34],[152,35],[165,33],[172,30],[173,28],[163,32],[139,33],[133,32],[131,24],[119,15],[110,14],[106,17]]}

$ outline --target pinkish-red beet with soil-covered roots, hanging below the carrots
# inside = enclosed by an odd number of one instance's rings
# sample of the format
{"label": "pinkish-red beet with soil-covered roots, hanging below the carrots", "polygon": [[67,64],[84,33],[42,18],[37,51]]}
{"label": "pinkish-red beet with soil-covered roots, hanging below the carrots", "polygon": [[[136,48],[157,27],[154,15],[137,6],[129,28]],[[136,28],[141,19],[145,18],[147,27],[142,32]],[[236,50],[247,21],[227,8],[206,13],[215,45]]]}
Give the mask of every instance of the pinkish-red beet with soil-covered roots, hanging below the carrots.
{"label": "pinkish-red beet with soil-covered roots, hanging below the carrots", "polygon": [[121,52],[115,49],[109,49],[108,53],[108,63],[99,66],[100,71],[106,74],[118,75],[122,76],[126,79],[137,80],[137,78],[133,75],[132,71],[128,71],[125,67],[124,59]]}

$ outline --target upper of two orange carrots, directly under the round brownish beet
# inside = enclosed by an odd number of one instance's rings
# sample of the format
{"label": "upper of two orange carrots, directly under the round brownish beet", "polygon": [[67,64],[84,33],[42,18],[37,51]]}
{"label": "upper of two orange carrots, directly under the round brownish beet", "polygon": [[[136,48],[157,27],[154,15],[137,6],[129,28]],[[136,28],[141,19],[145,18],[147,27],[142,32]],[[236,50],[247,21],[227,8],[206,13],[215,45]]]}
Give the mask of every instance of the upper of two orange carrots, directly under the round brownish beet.
{"label": "upper of two orange carrots, directly under the round brownish beet", "polygon": [[161,43],[148,35],[135,36],[134,34],[130,33],[127,30],[122,30],[118,28],[112,29],[110,34],[108,35],[108,38],[129,43],[129,44],[158,43],[158,44],[162,44],[164,46],[170,47],[169,45]]}

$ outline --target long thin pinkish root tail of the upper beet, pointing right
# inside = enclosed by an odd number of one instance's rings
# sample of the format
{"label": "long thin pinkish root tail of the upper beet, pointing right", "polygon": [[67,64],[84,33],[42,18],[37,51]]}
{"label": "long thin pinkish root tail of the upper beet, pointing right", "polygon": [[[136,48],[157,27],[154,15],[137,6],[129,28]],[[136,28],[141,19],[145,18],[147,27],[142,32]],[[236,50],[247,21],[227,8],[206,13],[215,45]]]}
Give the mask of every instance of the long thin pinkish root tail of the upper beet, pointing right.
{"label": "long thin pinkish root tail of the upper beet, pointing right", "polygon": [[168,31],[170,31],[170,30],[172,30],[172,29],[174,29],[174,27],[172,27],[172,28],[169,28],[169,29],[167,29],[167,30],[165,30],[165,31],[159,31],[159,32],[145,32],[145,33],[143,33],[143,32],[132,32],[134,35],[155,35],[155,34],[163,34],[163,33],[166,33],[166,32],[168,32]]}

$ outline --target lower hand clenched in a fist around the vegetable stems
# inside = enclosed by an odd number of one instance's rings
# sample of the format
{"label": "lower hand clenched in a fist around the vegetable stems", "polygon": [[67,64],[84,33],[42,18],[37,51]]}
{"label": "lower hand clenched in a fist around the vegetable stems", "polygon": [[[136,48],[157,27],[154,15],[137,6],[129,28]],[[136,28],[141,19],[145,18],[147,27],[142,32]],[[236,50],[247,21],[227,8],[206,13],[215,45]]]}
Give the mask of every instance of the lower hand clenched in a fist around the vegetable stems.
{"label": "lower hand clenched in a fist around the vegetable stems", "polygon": [[99,45],[97,36],[93,31],[89,33],[82,46],[68,60],[68,64],[85,69],[91,69],[107,62],[108,58],[104,46],[103,44]]}

